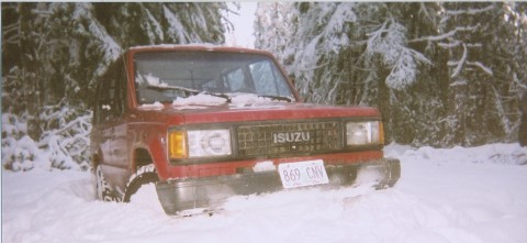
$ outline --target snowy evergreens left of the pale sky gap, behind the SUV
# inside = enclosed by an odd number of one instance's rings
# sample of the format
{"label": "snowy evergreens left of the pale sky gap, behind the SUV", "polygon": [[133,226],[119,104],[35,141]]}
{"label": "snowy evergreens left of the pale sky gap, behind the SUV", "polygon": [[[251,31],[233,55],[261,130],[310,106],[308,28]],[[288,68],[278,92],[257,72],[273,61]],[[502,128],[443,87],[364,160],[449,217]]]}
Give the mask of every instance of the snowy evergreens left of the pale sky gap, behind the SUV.
{"label": "snowy evergreens left of the pale sky gap, behind the SUV", "polygon": [[2,123],[25,124],[2,126],[3,166],[32,168],[44,148],[49,167],[86,168],[97,77],[132,45],[224,43],[224,11],[222,2],[2,3]]}

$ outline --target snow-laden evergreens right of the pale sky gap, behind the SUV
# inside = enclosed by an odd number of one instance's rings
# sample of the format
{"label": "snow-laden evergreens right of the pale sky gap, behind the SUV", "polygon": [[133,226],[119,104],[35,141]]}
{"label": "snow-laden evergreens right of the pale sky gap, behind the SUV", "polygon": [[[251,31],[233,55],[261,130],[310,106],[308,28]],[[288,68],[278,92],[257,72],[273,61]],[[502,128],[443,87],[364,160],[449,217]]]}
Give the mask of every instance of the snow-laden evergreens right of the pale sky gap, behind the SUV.
{"label": "snow-laden evergreens right of the pale sky gap, behind the SUV", "polygon": [[525,3],[287,8],[289,15],[260,4],[256,46],[281,58],[305,100],[375,106],[389,139],[400,143],[514,140],[527,88]]}

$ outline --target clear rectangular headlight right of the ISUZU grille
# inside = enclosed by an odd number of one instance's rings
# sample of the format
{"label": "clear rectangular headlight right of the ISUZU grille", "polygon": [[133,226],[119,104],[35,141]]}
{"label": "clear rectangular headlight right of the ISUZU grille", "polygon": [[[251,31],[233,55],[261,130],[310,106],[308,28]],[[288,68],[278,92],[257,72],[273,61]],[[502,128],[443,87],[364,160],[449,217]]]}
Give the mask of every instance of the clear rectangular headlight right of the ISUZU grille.
{"label": "clear rectangular headlight right of the ISUZU grille", "polygon": [[346,123],[347,145],[384,144],[382,122],[348,122]]}

